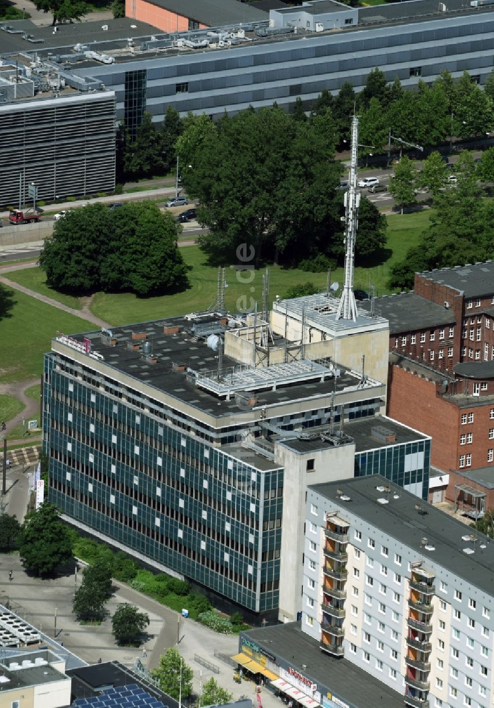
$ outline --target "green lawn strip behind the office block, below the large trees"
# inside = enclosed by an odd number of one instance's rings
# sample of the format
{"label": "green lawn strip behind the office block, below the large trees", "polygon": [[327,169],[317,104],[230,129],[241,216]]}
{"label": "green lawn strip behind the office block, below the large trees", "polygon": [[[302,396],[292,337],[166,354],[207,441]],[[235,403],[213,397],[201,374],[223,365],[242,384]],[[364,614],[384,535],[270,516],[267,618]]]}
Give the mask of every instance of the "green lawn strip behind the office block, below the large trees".
{"label": "green lawn strip behind the office block, below the large trees", "polygon": [[[369,264],[368,268],[355,268],[355,287],[367,290],[370,275],[372,282],[374,282],[376,295],[389,292],[387,287],[389,268],[396,261],[405,258],[406,251],[417,243],[420,234],[427,227],[429,218],[430,210],[387,217],[389,224],[388,258],[377,265]],[[189,274],[191,286],[189,290],[177,295],[163,295],[147,299],[140,299],[130,293],[106,295],[103,292],[98,292],[91,303],[91,312],[110,324],[117,325],[206,309],[216,295],[217,268],[205,265],[206,257],[198,246],[186,246],[182,253],[185,261],[193,266],[193,270]],[[234,268],[226,270],[228,285],[226,307],[231,312],[238,311],[239,298],[246,297],[248,305],[250,305],[250,297],[253,297],[254,300],[257,299],[258,303],[262,302],[263,272],[264,270],[254,271],[252,282],[244,285],[238,279],[240,273],[237,273]],[[326,273],[305,273],[302,270],[285,270],[279,266],[271,266],[270,299],[275,299],[276,295],[283,297],[291,285],[308,280],[313,282],[316,287],[326,287]],[[338,280],[341,285],[343,283],[343,268],[338,268],[334,273],[331,273],[331,280]],[[239,302],[241,307],[242,301]]]}

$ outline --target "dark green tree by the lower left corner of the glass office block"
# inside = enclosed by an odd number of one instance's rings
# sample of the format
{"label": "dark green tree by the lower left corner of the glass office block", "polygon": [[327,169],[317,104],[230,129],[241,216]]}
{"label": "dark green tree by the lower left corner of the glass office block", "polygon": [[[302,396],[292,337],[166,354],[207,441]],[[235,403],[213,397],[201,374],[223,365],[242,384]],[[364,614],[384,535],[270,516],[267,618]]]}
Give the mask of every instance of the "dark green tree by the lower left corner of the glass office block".
{"label": "dark green tree by the lower left corner of the glass office block", "polygon": [[19,555],[36,575],[51,573],[72,558],[72,537],[60,521],[59,510],[45,501],[26,516],[18,535]]}

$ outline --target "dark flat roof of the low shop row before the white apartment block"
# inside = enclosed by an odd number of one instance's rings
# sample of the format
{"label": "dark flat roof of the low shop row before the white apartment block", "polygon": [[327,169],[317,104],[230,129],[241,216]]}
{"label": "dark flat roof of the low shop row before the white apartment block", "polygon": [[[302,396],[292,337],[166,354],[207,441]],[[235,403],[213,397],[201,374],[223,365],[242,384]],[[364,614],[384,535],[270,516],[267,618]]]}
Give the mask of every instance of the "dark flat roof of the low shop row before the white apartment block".
{"label": "dark flat roof of the low shop row before the white apartment block", "polygon": [[353,708],[398,708],[403,705],[403,690],[394,691],[348,659],[321,651],[320,642],[302,632],[299,622],[249,629],[242,635],[263,646],[276,658],[284,659],[318,686],[328,687],[342,700],[350,702]]}

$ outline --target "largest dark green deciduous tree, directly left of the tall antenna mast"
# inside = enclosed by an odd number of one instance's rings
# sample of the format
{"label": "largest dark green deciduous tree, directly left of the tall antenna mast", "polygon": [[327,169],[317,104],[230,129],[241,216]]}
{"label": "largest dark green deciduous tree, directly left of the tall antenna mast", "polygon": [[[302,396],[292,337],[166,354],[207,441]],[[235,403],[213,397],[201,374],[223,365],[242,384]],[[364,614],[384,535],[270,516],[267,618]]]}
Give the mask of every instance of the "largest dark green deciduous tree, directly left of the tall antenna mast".
{"label": "largest dark green deciduous tree, directly left of the tall antenna mast", "polygon": [[341,232],[331,113],[293,120],[280,108],[243,110],[216,124],[191,121],[178,140],[183,181],[209,228],[200,246],[217,263],[236,263],[248,244],[254,262],[325,252]]}

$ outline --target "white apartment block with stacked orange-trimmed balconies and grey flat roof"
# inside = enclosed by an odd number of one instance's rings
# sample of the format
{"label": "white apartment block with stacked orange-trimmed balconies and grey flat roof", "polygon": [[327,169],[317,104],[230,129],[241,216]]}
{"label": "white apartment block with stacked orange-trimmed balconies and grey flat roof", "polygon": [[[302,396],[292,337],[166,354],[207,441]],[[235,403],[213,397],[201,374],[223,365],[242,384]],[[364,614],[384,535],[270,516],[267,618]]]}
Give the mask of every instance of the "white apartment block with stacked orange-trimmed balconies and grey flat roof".
{"label": "white apartment block with stacked orange-trimmed balconies and grey flat roof", "polygon": [[414,708],[494,701],[494,543],[375,475],[310,486],[301,629]]}

